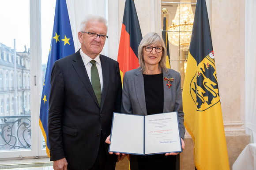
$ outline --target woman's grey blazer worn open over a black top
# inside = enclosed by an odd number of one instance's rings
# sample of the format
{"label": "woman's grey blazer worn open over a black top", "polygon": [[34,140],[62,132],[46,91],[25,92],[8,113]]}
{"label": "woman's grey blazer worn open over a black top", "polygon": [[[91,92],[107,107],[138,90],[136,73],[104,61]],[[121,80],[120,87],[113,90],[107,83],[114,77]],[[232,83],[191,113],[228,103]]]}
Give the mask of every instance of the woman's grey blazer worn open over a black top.
{"label": "woman's grey blazer worn open over a black top", "polygon": [[[123,95],[122,95],[122,113],[130,113],[135,115],[147,115],[146,99],[144,91],[144,78],[141,68],[128,71],[124,74]],[[168,69],[167,72],[162,70],[163,78],[174,78],[170,81],[172,86],[166,86],[167,81],[163,81],[164,87],[164,107],[163,112],[178,112],[180,133],[184,139],[184,113],[182,109],[182,94],[181,94],[181,75],[173,69]]]}

